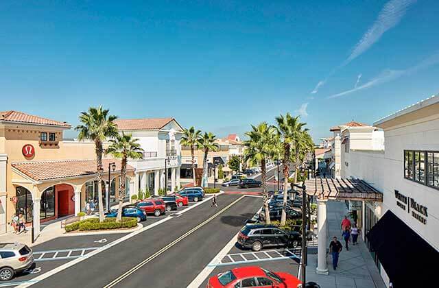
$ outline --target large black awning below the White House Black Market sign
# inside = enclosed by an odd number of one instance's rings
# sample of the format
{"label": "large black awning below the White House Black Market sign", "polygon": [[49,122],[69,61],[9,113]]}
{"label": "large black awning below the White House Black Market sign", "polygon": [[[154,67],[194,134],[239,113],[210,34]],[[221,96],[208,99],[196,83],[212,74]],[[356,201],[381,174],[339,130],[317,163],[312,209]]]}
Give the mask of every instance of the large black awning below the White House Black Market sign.
{"label": "large black awning below the White House Black Market sign", "polygon": [[434,283],[436,265],[428,263],[437,263],[439,252],[394,213],[387,211],[367,237],[395,288]]}

